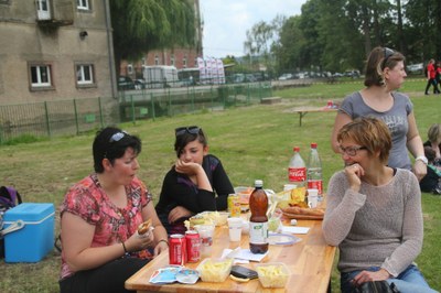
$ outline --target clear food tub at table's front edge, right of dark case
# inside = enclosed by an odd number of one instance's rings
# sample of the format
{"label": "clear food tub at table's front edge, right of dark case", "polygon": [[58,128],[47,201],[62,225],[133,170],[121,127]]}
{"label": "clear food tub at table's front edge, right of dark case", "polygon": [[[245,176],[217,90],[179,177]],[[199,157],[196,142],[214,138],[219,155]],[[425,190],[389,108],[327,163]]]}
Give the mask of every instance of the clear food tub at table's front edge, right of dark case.
{"label": "clear food tub at table's front edge, right of dark case", "polygon": [[282,262],[269,262],[256,264],[260,284],[263,287],[286,287],[290,271]]}

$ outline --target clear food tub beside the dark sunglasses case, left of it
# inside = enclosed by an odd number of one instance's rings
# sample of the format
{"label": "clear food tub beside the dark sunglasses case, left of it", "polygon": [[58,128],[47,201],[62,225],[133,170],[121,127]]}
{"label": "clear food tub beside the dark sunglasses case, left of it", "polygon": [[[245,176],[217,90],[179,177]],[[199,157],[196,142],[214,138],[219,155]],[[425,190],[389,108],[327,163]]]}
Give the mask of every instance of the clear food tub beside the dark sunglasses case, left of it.
{"label": "clear food tub beside the dark sunglasses case, left of it", "polygon": [[196,270],[203,282],[224,282],[233,267],[233,259],[204,259]]}

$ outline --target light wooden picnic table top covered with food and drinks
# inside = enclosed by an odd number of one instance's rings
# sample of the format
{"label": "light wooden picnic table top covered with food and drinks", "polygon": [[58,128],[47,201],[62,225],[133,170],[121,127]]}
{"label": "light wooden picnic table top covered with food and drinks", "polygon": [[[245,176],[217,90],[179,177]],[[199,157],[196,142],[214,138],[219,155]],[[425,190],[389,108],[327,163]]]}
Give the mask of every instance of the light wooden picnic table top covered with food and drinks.
{"label": "light wooden picnic table top covered with food and drinks", "polygon": [[[335,247],[327,246],[322,234],[321,220],[298,220],[298,226],[309,227],[305,235],[295,235],[302,241],[289,246],[269,246],[268,254],[261,262],[283,262],[290,270],[289,283],[284,289],[265,289],[258,279],[247,283],[227,278],[222,283],[202,282],[195,284],[152,284],[152,273],[169,264],[169,253],[161,253],[126,281],[126,289],[141,292],[309,292],[324,293],[330,290],[331,272]],[[220,258],[225,248],[249,248],[248,235],[243,235],[240,243],[230,242],[228,227],[216,227],[212,257]],[[187,263],[186,268],[195,269],[198,263]],[[241,264],[255,269],[255,263]]]}

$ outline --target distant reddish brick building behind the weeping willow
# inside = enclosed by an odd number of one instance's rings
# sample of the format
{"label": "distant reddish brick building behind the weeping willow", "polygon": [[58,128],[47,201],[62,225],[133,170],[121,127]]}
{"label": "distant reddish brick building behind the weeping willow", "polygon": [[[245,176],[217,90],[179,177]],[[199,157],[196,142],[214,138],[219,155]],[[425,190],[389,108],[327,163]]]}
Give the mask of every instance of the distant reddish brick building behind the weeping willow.
{"label": "distant reddish brick building behind the weeping willow", "polygon": [[203,23],[201,19],[200,0],[193,0],[195,11],[195,44],[191,47],[174,47],[150,51],[146,56],[133,63],[121,62],[120,75],[129,76],[132,79],[142,78],[142,66],[166,65],[178,69],[197,67],[197,57],[203,56],[202,35]]}

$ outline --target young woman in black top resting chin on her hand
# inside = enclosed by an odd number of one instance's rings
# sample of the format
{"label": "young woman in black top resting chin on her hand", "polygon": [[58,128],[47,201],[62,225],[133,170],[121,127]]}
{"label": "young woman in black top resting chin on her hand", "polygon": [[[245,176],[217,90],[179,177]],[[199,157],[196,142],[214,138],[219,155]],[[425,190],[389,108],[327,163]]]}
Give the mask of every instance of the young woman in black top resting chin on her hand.
{"label": "young woman in black top resting chin on her hand", "polygon": [[184,234],[191,216],[225,210],[234,188],[220,160],[208,154],[202,128],[176,128],[174,151],[178,160],[164,177],[155,208],[169,234]]}

